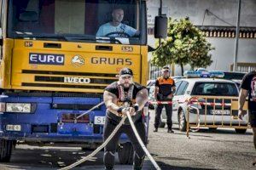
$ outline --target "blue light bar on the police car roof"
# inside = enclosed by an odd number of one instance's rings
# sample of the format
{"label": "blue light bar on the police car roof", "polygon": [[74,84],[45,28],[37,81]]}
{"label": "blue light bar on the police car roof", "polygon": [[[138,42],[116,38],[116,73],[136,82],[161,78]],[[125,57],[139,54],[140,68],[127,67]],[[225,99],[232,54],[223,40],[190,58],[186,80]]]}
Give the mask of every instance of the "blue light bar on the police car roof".
{"label": "blue light bar on the police car roof", "polygon": [[184,77],[218,77],[223,78],[223,71],[185,71]]}

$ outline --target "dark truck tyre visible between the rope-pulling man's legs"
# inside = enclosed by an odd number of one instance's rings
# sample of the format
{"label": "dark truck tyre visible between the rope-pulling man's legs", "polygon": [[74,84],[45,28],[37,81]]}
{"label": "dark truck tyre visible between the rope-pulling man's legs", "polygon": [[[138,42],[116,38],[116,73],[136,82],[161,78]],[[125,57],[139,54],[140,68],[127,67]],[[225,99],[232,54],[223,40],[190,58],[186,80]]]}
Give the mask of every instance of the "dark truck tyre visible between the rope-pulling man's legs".
{"label": "dark truck tyre visible between the rope-pulling man's legs", "polygon": [[119,163],[131,165],[133,163],[133,146],[130,142],[121,144],[118,149]]}

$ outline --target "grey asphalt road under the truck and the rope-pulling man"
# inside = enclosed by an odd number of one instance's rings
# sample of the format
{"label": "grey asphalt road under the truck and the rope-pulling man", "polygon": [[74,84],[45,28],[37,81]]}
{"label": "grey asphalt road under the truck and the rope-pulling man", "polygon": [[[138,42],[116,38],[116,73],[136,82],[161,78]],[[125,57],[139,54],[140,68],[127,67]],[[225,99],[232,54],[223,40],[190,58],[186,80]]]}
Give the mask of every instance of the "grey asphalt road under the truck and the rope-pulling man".
{"label": "grey asphalt road under the truck and the rope-pulling man", "polygon": [[[175,133],[166,133],[166,128],[153,133],[154,113],[151,115],[148,150],[161,169],[256,169],[252,166],[253,160],[256,160],[256,151],[251,129],[245,134],[237,134],[234,129],[228,128],[214,132],[201,129],[200,132],[190,133],[189,139],[177,128],[174,128]],[[0,164],[0,169],[58,169],[78,161],[91,151],[74,147],[35,147],[22,144],[17,145],[11,162]],[[102,156],[103,153],[100,152],[74,169],[103,169]],[[131,169],[131,166],[119,165],[117,157],[116,164],[116,170]],[[143,169],[154,169],[148,158]]]}

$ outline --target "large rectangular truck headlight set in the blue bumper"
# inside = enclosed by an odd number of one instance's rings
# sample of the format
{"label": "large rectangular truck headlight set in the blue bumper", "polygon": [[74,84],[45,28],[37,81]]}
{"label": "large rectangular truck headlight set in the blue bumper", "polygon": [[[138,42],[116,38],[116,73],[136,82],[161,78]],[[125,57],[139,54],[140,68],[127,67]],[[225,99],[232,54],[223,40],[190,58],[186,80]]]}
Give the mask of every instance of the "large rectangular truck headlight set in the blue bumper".
{"label": "large rectangular truck headlight set in the blue bumper", "polygon": [[25,103],[6,103],[6,112],[22,112],[22,113],[30,113],[31,112],[31,104]]}

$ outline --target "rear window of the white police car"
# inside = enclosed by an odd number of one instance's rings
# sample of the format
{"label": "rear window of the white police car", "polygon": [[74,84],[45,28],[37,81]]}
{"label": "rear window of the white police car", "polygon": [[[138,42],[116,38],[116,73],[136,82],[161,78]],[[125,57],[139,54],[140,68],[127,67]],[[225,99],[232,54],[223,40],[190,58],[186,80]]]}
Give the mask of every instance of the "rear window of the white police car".
{"label": "rear window of the white police car", "polygon": [[238,96],[238,90],[235,83],[196,82],[192,95]]}

